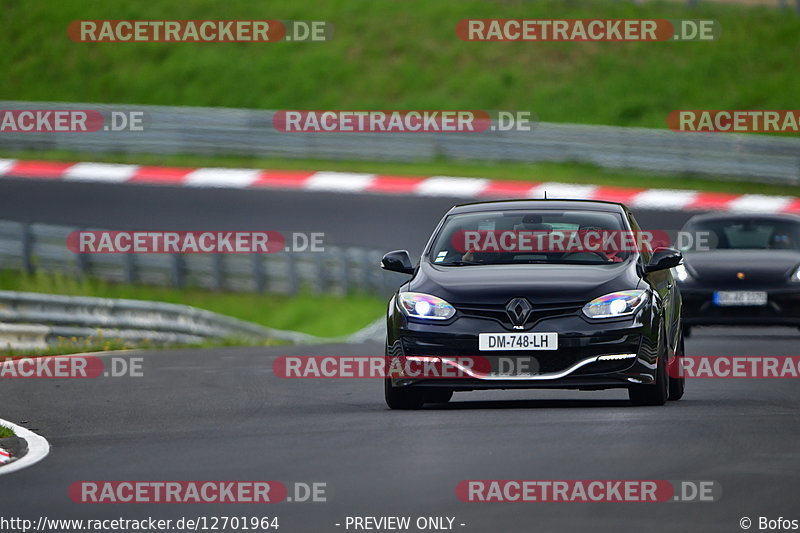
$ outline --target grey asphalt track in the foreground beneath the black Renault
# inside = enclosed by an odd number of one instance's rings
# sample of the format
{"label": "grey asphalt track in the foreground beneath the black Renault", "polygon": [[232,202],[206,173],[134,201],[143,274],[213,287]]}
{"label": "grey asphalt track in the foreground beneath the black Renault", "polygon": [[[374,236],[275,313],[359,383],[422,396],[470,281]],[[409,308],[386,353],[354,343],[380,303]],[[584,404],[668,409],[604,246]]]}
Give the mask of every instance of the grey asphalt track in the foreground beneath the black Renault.
{"label": "grey asphalt track in the foreground beneath the black Renault", "polygon": [[[798,355],[793,329],[700,329],[690,355]],[[4,380],[3,417],[52,452],[0,476],[3,516],[278,516],[280,531],[344,531],[346,516],[454,516],[457,531],[738,531],[796,518],[800,389],[793,379],[690,380],[683,400],[624,391],[457,393],[388,410],[370,379],[280,379],[278,355],[378,355],[380,345],[137,352],[143,377]],[[76,504],[80,480],[324,482],[326,503]],[[464,503],[464,479],[710,480],[709,503]],[[352,531],[352,529],[351,529]]]}

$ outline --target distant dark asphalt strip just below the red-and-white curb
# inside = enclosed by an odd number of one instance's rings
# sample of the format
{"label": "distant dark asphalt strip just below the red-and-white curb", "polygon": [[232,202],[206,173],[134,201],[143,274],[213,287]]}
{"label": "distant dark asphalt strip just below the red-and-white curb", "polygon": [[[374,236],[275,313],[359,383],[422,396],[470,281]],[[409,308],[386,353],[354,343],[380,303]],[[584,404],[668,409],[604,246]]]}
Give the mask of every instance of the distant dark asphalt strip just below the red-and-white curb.
{"label": "distant dark asphalt strip just below the red-and-white curb", "polygon": [[[0,179],[0,219],[129,230],[325,232],[331,245],[420,252],[442,215],[474,199]],[[634,213],[651,230],[693,214]]]}

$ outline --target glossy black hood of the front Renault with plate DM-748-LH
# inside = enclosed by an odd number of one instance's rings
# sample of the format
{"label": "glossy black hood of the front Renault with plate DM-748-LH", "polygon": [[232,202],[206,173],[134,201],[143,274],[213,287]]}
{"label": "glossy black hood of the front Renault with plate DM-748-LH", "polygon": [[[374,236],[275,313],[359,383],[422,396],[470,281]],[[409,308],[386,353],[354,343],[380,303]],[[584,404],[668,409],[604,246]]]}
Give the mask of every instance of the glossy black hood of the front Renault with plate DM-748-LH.
{"label": "glossy black hood of the front Renault with plate DM-748-LH", "polygon": [[610,265],[480,265],[442,267],[420,264],[409,291],[424,292],[453,304],[505,305],[511,298],[534,303],[588,302],[637,287],[636,263]]}

